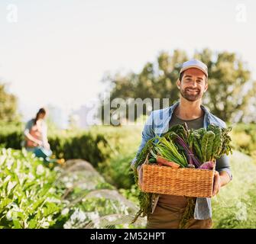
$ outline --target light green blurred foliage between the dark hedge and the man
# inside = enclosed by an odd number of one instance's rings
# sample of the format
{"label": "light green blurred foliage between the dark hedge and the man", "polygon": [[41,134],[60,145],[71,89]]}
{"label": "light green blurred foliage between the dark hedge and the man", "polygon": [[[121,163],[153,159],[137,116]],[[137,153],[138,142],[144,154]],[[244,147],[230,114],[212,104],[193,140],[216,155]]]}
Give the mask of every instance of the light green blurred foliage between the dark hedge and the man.
{"label": "light green blurred foliage between the dark hedge and the man", "polygon": [[129,189],[134,185],[130,169],[134,150],[141,140],[142,123],[125,127],[92,127],[92,133],[103,133],[112,149],[112,156],[98,165],[99,172],[105,180],[116,188]]}

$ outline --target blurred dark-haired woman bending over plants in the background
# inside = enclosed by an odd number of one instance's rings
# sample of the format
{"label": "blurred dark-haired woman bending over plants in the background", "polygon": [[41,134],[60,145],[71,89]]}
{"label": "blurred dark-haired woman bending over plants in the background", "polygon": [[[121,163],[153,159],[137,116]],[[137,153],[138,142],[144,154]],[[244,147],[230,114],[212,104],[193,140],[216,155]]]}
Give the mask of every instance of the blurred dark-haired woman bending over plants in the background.
{"label": "blurred dark-haired woman bending over plants in the background", "polygon": [[22,146],[29,152],[34,152],[35,156],[48,161],[52,151],[47,140],[47,124],[44,121],[46,115],[47,111],[40,108],[36,117],[28,121],[24,129],[24,143]]}

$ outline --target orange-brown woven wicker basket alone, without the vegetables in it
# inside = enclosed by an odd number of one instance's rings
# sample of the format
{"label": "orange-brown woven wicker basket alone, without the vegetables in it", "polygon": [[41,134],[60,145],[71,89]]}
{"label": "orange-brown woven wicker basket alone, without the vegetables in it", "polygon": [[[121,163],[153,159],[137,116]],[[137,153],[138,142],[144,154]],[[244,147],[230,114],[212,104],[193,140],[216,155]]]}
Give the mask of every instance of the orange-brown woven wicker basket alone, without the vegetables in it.
{"label": "orange-brown woven wicker basket alone, without the vegetables in it", "polygon": [[215,169],[173,169],[150,165],[147,159],[142,167],[141,191],[186,197],[212,197]]}

